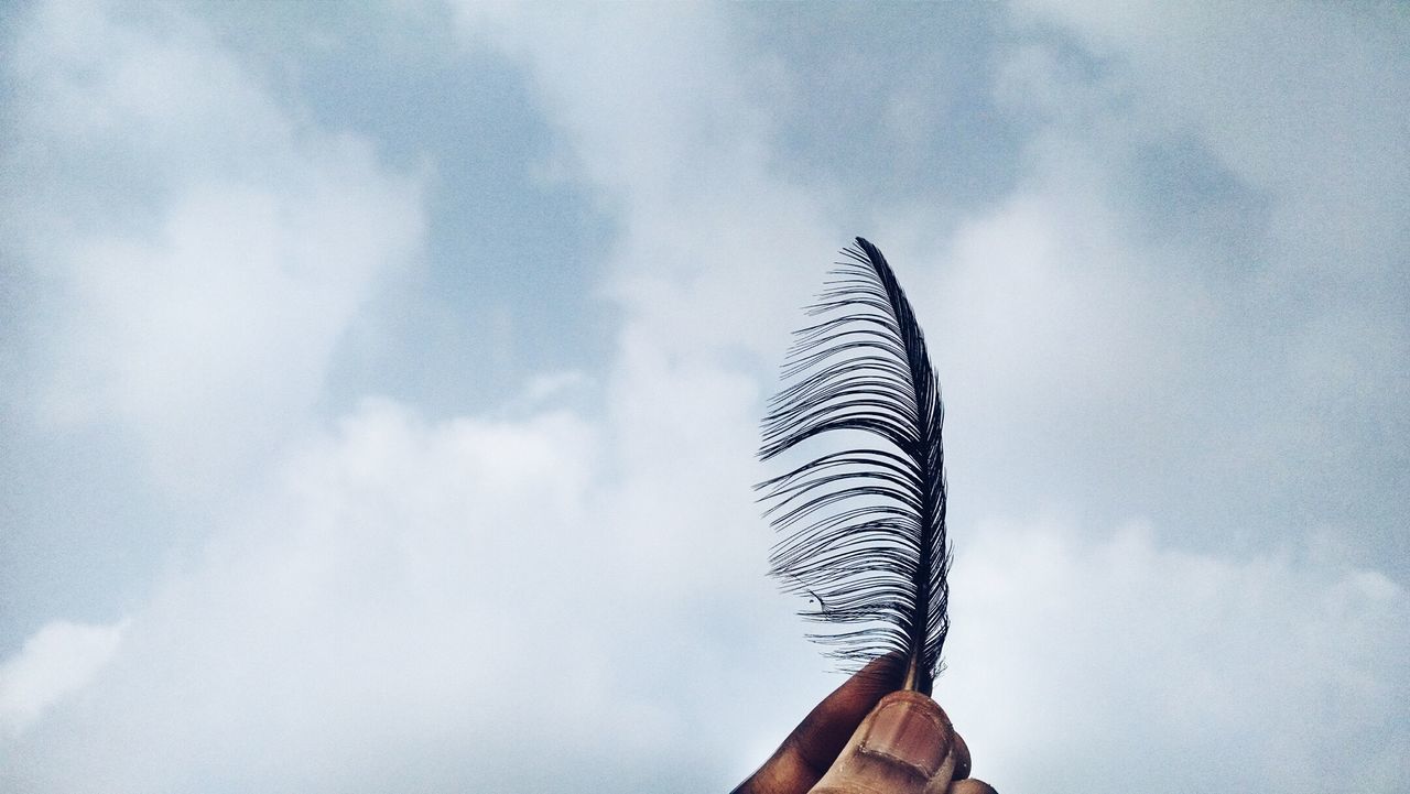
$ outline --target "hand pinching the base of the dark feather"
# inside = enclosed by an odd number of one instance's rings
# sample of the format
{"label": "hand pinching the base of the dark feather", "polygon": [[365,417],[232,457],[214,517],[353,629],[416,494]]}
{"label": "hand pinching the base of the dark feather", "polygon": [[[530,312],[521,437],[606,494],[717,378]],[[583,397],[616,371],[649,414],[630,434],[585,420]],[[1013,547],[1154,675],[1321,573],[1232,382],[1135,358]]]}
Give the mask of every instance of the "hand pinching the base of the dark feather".
{"label": "hand pinching the base of the dark feather", "polygon": [[995,794],[969,780],[964,739],[881,657],[823,698],[732,794]]}

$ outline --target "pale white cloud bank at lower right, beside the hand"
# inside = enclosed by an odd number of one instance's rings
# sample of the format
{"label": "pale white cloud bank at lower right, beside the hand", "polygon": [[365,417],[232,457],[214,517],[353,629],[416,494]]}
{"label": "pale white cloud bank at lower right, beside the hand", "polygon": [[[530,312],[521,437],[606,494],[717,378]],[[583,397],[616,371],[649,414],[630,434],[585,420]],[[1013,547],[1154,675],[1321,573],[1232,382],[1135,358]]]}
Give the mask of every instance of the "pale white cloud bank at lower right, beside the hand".
{"label": "pale white cloud bank at lower right, beside the hand", "polygon": [[1292,551],[1179,551],[1139,523],[1074,529],[987,520],[962,547],[938,697],[980,776],[1058,791],[1406,784],[1404,588]]}

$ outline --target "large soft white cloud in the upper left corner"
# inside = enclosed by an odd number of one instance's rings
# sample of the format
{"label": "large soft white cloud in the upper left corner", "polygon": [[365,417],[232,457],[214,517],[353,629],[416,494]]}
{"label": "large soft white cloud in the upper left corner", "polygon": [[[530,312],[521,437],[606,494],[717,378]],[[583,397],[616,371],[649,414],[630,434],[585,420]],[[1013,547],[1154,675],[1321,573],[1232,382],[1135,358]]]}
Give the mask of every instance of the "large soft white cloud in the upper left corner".
{"label": "large soft white cloud in the upper left corner", "polygon": [[123,427],[164,487],[219,491],[306,419],[352,314],[416,255],[420,178],[176,10],[25,21],[7,247],[47,303],[25,307],[45,365],[23,413]]}

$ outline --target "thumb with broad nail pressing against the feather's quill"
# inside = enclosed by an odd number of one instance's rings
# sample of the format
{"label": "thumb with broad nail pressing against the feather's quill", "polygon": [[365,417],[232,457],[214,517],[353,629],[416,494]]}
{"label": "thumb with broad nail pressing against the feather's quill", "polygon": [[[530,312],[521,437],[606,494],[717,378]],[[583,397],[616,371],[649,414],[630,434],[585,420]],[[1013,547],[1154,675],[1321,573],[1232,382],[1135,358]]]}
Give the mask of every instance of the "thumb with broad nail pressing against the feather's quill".
{"label": "thumb with broad nail pressing against the feather's quill", "polygon": [[881,698],[811,794],[942,793],[955,774],[945,711],[912,691]]}

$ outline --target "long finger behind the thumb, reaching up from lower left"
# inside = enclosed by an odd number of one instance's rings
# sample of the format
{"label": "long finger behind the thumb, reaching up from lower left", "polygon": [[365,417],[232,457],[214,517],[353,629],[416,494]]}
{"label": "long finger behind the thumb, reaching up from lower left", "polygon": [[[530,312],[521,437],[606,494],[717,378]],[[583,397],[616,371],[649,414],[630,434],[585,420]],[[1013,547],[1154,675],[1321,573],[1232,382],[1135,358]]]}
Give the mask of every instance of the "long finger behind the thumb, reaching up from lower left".
{"label": "long finger behind the thumb, reaching up from lower left", "polygon": [[881,695],[895,688],[900,673],[895,656],[871,660],[808,712],[764,766],[732,794],[804,794],[812,788]]}

